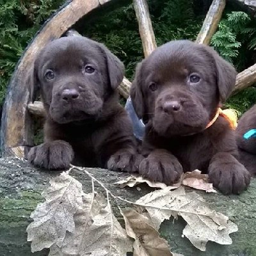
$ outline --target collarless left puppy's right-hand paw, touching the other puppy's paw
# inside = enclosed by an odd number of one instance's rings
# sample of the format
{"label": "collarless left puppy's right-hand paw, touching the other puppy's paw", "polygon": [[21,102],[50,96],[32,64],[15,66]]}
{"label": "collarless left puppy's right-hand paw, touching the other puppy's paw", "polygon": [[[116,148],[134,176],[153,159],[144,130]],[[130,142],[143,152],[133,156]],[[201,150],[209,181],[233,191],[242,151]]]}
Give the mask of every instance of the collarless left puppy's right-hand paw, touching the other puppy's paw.
{"label": "collarless left puppy's right-hand paw, touching the other puppy's paw", "polygon": [[108,169],[121,172],[138,172],[143,157],[135,152],[119,150],[108,160]]}

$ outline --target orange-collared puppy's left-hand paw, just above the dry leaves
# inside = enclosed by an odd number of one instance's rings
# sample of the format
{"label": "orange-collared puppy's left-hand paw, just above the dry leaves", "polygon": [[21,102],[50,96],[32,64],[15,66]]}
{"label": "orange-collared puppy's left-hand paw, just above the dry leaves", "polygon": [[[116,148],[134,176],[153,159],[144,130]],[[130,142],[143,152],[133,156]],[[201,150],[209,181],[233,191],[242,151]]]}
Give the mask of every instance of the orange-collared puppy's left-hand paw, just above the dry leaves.
{"label": "orange-collared puppy's left-hand paw, just above the dry leaves", "polygon": [[167,185],[178,182],[183,172],[179,160],[166,150],[154,150],[140,163],[139,173],[152,181]]}

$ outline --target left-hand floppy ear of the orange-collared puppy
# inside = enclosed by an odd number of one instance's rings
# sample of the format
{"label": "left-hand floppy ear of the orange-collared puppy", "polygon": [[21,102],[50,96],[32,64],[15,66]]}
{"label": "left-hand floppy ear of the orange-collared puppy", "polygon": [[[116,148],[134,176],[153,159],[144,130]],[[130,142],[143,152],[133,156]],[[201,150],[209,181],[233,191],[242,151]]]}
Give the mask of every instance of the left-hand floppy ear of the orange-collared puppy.
{"label": "left-hand floppy ear of the orange-collared puppy", "polygon": [[141,63],[139,63],[136,67],[135,78],[132,81],[132,86],[130,90],[132,105],[139,118],[143,118],[145,114],[145,103],[143,102],[141,82]]}

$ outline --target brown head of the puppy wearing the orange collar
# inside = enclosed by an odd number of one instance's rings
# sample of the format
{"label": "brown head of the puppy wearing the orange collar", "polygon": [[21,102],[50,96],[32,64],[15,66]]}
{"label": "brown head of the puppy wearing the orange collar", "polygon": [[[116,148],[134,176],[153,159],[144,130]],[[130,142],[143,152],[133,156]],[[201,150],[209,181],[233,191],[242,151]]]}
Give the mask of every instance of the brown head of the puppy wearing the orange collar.
{"label": "brown head of the puppy wearing the orange collar", "polygon": [[173,41],[137,67],[131,99],[161,136],[203,131],[232,92],[236,70],[211,47]]}

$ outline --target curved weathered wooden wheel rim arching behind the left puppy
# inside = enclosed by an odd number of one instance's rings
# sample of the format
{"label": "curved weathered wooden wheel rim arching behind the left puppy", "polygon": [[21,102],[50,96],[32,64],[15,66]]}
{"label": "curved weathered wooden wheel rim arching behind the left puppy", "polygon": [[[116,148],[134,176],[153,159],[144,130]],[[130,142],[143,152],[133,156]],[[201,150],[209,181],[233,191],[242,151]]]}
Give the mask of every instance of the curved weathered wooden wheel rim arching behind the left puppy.
{"label": "curved weathered wooden wheel rim arching behind the left puppy", "polygon": [[36,54],[51,40],[63,35],[81,17],[110,1],[68,1],[50,20],[45,22],[38,35],[24,51],[8,86],[3,106],[0,133],[3,156],[15,156],[12,148],[33,145],[33,122],[27,111],[29,90],[26,84],[26,73],[31,68]]}

